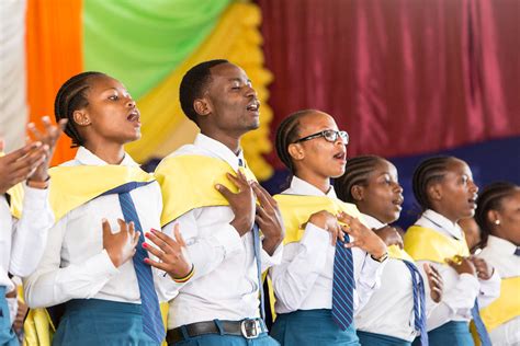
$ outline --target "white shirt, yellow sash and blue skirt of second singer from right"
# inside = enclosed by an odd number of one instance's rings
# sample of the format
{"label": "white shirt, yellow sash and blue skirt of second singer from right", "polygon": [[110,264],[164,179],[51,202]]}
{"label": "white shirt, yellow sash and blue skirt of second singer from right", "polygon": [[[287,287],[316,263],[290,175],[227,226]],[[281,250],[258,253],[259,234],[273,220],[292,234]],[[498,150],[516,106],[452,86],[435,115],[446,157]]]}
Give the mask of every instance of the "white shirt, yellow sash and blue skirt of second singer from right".
{"label": "white shirt, yellow sash and blue skirt of second singer from right", "polygon": [[[456,249],[456,251],[454,250],[450,256],[442,255],[441,257],[443,258],[436,261],[421,260],[425,257],[421,257],[418,249],[422,244],[418,242],[426,238],[421,238],[419,232],[412,231],[414,228],[420,232],[427,232],[432,239],[443,242],[442,244],[439,243],[442,245],[439,246],[441,254],[443,249],[445,250],[450,246]],[[412,235],[418,237],[412,240]],[[425,243],[423,245],[429,246],[429,250],[438,249],[432,244]],[[473,345],[474,343],[468,331],[472,309],[475,305],[476,299],[478,299],[478,305],[482,309],[498,297],[500,278],[497,272],[495,270],[488,280],[481,280],[470,274],[459,275],[455,269],[445,264],[444,260],[446,257],[453,257],[455,254],[467,256],[470,251],[461,227],[431,209],[426,210],[414,227],[408,229],[405,234],[405,250],[416,260],[417,267],[421,272],[427,287],[426,291],[430,289],[427,275],[422,268],[425,262],[439,270],[444,282],[442,301],[440,303],[434,303],[429,295],[426,297],[427,310],[431,311],[427,320],[430,345]]]}

